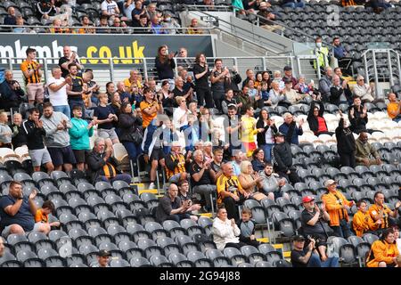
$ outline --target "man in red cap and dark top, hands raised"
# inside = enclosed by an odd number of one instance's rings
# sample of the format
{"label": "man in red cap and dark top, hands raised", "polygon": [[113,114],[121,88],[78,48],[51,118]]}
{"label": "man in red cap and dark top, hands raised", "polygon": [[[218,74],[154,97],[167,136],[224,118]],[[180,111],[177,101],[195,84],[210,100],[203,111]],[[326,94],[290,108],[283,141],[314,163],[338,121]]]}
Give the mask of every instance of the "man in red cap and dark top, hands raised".
{"label": "man in red cap and dark top, hands raised", "polygon": [[313,196],[305,196],[302,198],[302,206],[305,208],[301,214],[301,231],[304,235],[308,235],[316,240],[317,251],[323,262],[328,260],[326,255],[327,232],[324,230],[323,222],[330,221],[329,213],[322,208],[317,207]]}

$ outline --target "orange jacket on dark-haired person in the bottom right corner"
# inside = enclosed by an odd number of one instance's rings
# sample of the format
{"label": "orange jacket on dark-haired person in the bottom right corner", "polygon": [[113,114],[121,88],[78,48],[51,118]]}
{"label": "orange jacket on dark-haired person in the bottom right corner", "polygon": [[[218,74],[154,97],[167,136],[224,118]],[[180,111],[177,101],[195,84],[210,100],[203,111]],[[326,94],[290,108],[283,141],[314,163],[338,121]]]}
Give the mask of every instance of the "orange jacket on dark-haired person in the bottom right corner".
{"label": "orange jacket on dark-haired person in the bottom right corner", "polygon": [[393,263],[393,257],[399,255],[395,243],[387,243],[386,240],[376,240],[372,243],[371,251],[367,258],[367,267],[379,267],[379,263],[384,261],[386,264]]}

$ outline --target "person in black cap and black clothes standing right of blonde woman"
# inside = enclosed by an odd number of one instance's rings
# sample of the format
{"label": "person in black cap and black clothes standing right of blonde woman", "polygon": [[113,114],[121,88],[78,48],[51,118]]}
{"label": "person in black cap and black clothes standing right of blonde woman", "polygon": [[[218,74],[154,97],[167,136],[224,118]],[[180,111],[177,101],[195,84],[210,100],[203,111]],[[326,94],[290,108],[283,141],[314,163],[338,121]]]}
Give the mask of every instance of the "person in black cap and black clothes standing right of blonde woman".
{"label": "person in black cap and black clothes standing right of blonde woman", "polygon": [[295,167],[292,167],[292,152],[290,143],[285,141],[285,134],[274,134],[275,145],[272,150],[275,173],[291,181],[292,184],[300,182]]}

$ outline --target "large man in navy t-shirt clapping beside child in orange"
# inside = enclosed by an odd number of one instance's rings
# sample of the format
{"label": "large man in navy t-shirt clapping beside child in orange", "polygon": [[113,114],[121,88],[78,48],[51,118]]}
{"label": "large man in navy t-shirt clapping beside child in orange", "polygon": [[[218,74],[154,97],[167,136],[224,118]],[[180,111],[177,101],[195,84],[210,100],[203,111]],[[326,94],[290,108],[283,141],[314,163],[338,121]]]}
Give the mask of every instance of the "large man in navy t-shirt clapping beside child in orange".
{"label": "large man in navy t-shirt clapping beside child in orange", "polygon": [[24,196],[22,184],[12,181],[9,194],[0,198],[0,232],[4,238],[12,233],[46,232],[45,224],[35,224],[37,191]]}

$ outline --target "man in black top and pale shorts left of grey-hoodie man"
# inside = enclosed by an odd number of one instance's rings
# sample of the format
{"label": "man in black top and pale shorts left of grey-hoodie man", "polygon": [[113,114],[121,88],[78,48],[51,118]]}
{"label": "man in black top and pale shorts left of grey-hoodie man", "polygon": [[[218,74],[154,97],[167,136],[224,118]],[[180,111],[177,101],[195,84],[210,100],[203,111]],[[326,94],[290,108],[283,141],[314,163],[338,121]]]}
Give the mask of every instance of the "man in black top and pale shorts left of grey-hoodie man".
{"label": "man in black top and pale shorts left of grey-hoodie man", "polygon": [[45,149],[43,143],[42,135],[45,135],[46,132],[42,120],[39,119],[37,108],[29,110],[29,118],[22,123],[22,129],[27,137],[29,157],[32,159],[34,171],[40,171],[40,166],[45,164],[47,172],[50,174],[54,167],[49,151]]}

